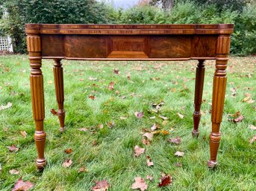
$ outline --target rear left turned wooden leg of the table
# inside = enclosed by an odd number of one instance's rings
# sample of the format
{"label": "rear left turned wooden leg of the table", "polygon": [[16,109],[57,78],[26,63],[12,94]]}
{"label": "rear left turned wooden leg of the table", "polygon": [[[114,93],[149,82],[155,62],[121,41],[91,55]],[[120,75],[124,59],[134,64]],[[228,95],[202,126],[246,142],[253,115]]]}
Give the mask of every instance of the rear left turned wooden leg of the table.
{"label": "rear left turned wooden leg of the table", "polygon": [[54,84],[55,84],[55,94],[57,100],[58,110],[55,111],[51,109],[52,114],[56,114],[60,120],[60,132],[65,129],[65,110],[64,110],[64,86],[63,86],[63,68],[60,59],[54,59]]}

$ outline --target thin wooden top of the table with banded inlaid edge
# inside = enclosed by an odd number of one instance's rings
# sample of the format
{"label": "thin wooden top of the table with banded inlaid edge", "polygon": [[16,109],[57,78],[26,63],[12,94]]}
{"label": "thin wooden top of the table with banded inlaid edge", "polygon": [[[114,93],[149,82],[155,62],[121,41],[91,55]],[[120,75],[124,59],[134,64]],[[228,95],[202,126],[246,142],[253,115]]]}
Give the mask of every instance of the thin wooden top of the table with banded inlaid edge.
{"label": "thin wooden top of the table with banded inlaid edge", "polygon": [[233,24],[190,25],[98,25],[98,24],[26,24],[27,34],[90,34],[90,35],[160,35],[160,34],[227,34]]}

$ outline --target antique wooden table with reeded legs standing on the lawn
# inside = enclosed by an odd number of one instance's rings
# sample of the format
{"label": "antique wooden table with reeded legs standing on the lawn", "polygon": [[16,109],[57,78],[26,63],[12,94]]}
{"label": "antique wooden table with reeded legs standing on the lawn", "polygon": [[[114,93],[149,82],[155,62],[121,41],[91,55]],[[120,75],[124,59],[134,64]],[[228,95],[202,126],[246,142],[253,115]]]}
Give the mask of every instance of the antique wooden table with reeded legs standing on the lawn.
{"label": "antique wooden table with reeded legs standing on the lawn", "polygon": [[[205,59],[216,59],[213,77],[212,132],[209,167],[216,166],[219,149],[219,126],[225,100],[226,71],[233,25],[49,25],[27,24],[28,56],[31,65],[31,100],[36,124],[37,167],[46,165],[46,132],[42,59],[54,59],[54,83],[60,120],[65,128],[63,109],[63,68],[61,59],[83,60],[199,60],[196,68],[194,137],[199,136]],[[171,63],[170,63],[171,64]]]}

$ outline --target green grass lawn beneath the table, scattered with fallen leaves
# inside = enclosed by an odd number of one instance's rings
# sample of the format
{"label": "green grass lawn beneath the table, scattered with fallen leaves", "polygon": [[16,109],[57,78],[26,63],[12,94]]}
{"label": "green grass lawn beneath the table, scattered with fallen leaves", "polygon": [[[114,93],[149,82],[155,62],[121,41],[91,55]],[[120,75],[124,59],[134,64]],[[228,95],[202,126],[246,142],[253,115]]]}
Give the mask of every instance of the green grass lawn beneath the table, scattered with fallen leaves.
{"label": "green grass lawn beneath the table, scattered with fallen leaves", "polygon": [[[33,190],[90,190],[94,181],[107,180],[109,190],[128,191],[137,176],[146,180],[148,190],[255,190],[256,143],[249,140],[256,132],[249,127],[256,126],[256,57],[231,57],[228,62],[219,166],[214,170],[207,168],[213,60],[206,62],[198,139],[191,135],[196,60],[63,61],[66,132],[62,135],[57,117],[50,113],[51,108],[57,109],[52,64],[51,60],[43,60],[48,164],[43,172],[38,172],[28,56],[0,57],[0,106],[12,103],[9,109],[0,110],[0,190],[11,190],[21,176],[34,183]],[[113,72],[114,68],[119,68],[119,74]],[[113,90],[108,88],[110,82],[114,82]],[[231,88],[235,88],[235,96]],[[90,95],[96,99],[90,99]],[[164,105],[156,113],[152,103],[161,101]],[[144,116],[137,119],[135,111],[143,111]],[[237,111],[243,114],[243,121],[228,120],[228,114]],[[109,122],[114,122],[111,128],[107,126]],[[150,145],[144,145],[141,132],[154,123],[170,134],[154,135]],[[78,131],[81,128],[87,131]],[[27,136],[22,136],[21,131]],[[167,141],[177,136],[181,137],[181,144]],[[12,144],[19,151],[10,152],[7,146]],[[136,145],[146,148],[138,158],[134,157]],[[69,148],[72,153],[66,154],[64,150]],[[184,157],[175,157],[176,151],[184,152]],[[147,166],[147,155],[154,166]],[[66,159],[72,160],[69,168],[62,166]],[[78,173],[81,166],[87,171]],[[19,175],[11,175],[10,169],[19,169]],[[172,176],[172,185],[157,187],[161,172]],[[147,180],[147,175],[152,175],[153,181]]]}

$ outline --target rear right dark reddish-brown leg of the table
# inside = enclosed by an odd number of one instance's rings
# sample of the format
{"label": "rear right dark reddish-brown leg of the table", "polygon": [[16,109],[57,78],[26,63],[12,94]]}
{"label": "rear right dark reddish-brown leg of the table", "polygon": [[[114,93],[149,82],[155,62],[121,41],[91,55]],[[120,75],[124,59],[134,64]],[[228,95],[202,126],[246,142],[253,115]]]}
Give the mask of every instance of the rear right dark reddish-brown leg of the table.
{"label": "rear right dark reddish-brown leg of the table", "polygon": [[195,98],[194,98],[195,111],[193,113],[194,129],[192,131],[193,137],[199,136],[199,122],[201,118],[200,108],[202,104],[204,79],[205,79],[205,60],[199,59],[199,63],[196,68],[196,85],[195,85]]}

